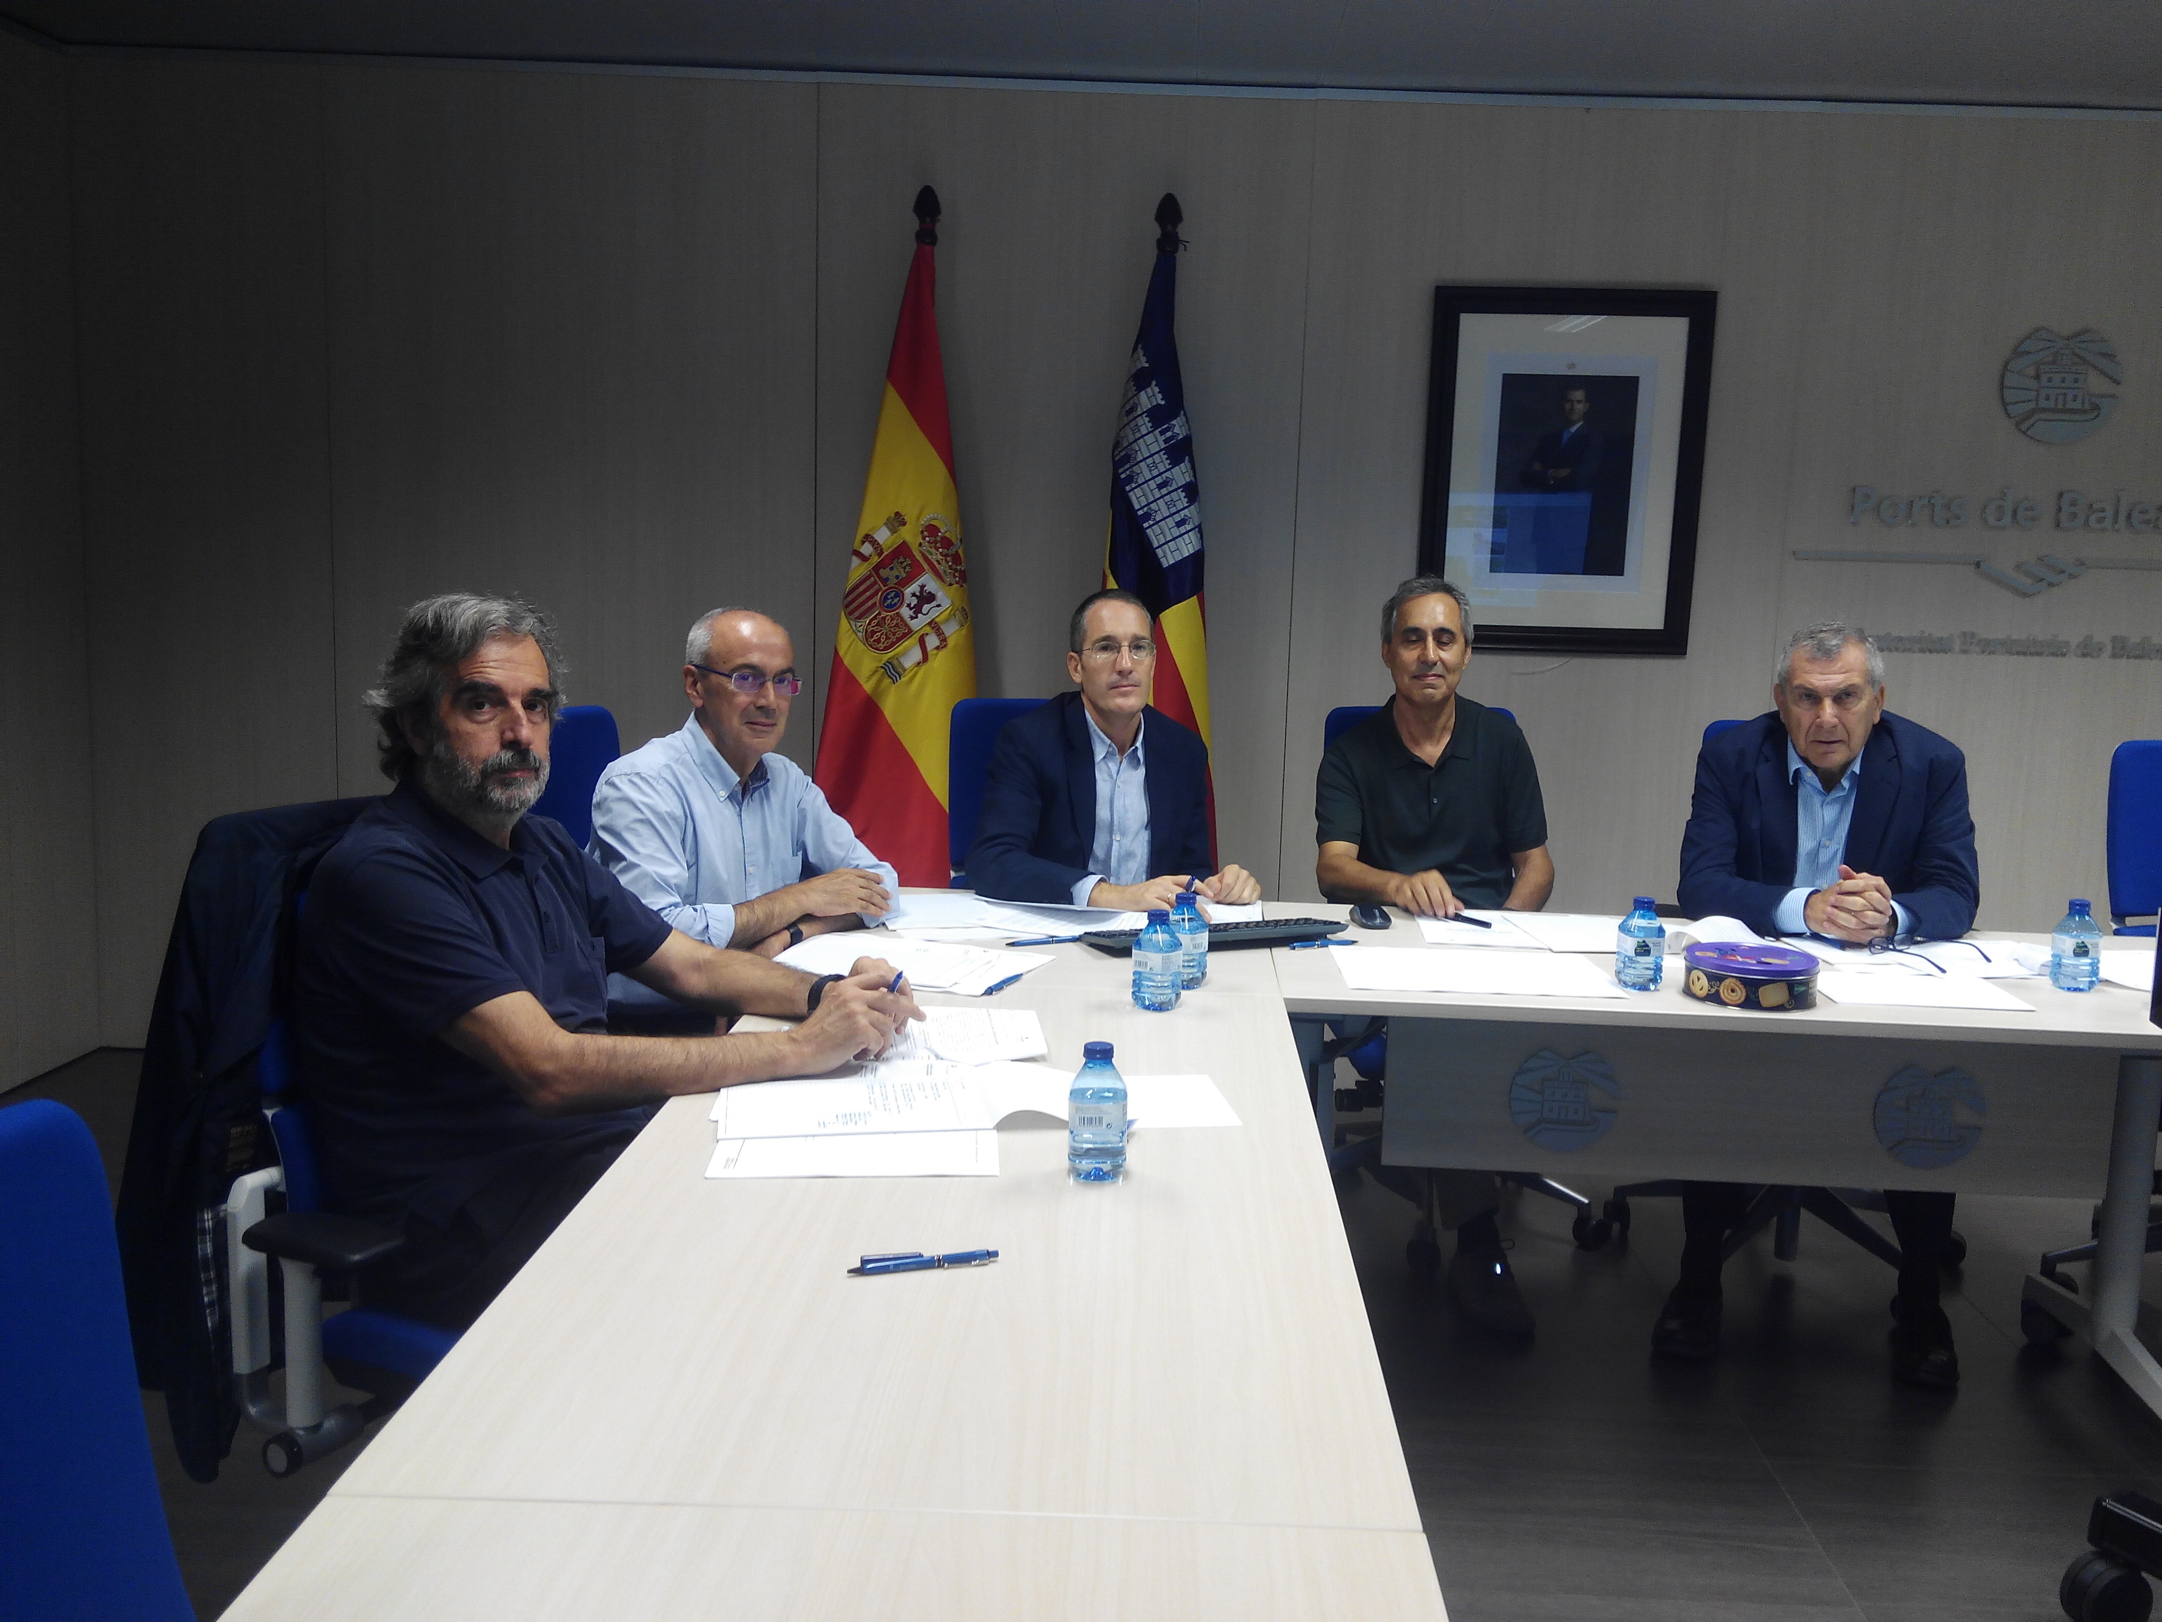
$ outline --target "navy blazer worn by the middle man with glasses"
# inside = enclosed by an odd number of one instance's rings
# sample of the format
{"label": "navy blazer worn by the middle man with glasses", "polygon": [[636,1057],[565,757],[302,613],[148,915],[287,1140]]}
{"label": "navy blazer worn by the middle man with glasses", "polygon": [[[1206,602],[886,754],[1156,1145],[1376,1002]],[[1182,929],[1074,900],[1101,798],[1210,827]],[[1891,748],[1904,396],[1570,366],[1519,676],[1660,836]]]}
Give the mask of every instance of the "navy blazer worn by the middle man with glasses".
{"label": "navy blazer worn by the middle man with glasses", "polygon": [[[1148,876],[1209,878],[1209,746],[1150,705]],[[1096,843],[1096,757],[1079,692],[1062,692],[999,729],[984,779],[984,815],[969,848],[969,882],[1001,902],[1070,904]]]}

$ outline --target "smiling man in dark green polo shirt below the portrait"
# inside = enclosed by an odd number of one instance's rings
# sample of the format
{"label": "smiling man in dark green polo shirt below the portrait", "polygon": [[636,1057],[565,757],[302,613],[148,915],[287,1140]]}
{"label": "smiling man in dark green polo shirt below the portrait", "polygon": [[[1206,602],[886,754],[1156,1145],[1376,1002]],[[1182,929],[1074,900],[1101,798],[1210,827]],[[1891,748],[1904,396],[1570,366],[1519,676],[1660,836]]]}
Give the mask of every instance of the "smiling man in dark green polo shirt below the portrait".
{"label": "smiling man in dark green polo shirt below the portrait", "polygon": [[[1468,906],[1537,913],[1552,895],[1539,768],[1513,720],[1457,696],[1470,657],[1462,590],[1438,575],[1397,586],[1382,608],[1397,696],[1330,744],[1314,783],[1314,880],[1332,902],[1455,917]],[[1474,1324],[1531,1334],[1494,1224],[1494,1174],[1431,1176],[1436,1220],[1457,1231],[1449,1293]]]}

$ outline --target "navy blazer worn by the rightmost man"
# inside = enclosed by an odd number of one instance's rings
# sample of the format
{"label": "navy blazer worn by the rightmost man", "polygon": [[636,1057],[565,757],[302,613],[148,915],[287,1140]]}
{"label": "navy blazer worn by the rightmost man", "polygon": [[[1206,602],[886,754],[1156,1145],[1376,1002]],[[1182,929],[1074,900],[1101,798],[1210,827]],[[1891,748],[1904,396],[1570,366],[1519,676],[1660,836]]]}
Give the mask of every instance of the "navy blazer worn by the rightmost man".
{"label": "navy blazer worn by the rightmost man", "polygon": [[[1842,861],[1883,878],[1918,934],[1954,941],[1974,928],[1983,876],[1967,815],[1967,757],[1926,727],[1879,716],[1861,748]],[[1794,785],[1786,776],[1786,727],[1771,712],[1697,750],[1678,900],[1691,917],[1725,913],[1758,934],[1777,934],[1773,913],[1790,889]]]}

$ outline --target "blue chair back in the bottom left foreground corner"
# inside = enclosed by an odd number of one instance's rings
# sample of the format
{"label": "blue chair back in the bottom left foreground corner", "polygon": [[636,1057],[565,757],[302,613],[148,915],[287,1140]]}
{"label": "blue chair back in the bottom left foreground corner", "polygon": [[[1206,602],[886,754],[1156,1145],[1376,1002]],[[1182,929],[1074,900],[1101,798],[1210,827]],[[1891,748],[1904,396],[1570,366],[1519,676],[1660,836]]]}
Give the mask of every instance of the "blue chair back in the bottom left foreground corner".
{"label": "blue chair back in the bottom left foreground corner", "polygon": [[0,1109],[0,1616],[195,1622],[143,1427],[97,1144]]}

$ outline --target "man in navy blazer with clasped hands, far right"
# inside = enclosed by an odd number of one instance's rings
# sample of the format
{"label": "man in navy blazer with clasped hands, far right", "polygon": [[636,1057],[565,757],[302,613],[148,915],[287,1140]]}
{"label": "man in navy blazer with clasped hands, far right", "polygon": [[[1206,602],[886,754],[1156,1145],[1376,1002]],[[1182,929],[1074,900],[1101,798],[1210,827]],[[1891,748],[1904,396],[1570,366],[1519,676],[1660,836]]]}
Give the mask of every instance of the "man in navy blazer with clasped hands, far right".
{"label": "man in navy blazer with clasped hands, far right", "polygon": [[[1704,744],[1682,835],[1680,904],[1758,934],[1957,941],[1974,926],[1980,867],[1967,815],[1967,759],[1954,744],[1885,714],[1883,655],[1851,625],[1797,631],[1773,683],[1777,714]],[[1689,1183],[1682,1282],[1652,1345],[1671,1356],[1719,1350],[1719,1261],[1743,1224],[1745,1189]],[[1952,1326],[1937,1304],[1952,1196],[1885,1189],[1900,1244],[1892,1371],[1959,1384]]]}

